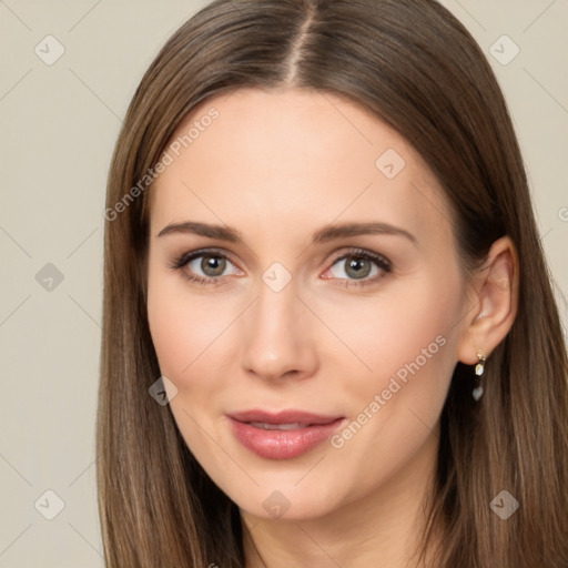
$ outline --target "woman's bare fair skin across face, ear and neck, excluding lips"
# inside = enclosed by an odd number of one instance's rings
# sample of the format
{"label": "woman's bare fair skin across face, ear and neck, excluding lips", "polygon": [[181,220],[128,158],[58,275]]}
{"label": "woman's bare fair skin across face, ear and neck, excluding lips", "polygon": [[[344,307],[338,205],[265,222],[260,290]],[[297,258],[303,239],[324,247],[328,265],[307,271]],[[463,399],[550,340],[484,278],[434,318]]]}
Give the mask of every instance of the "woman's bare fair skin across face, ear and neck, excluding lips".
{"label": "woman's bare fair skin across face, ear and neck, excluding lips", "polygon": [[[212,106],[219,119],[150,194],[148,315],[161,372],[178,388],[170,405],[179,428],[240,507],[247,567],[416,566],[453,369],[477,363],[478,348],[489,357],[515,318],[513,244],[497,241],[466,286],[436,179],[404,139],[353,102],[293,88],[241,89],[201,103],[172,139]],[[393,179],[376,166],[387,149],[406,162]],[[158,236],[185,221],[226,224],[242,240]],[[416,243],[373,234],[310,244],[329,223],[378,221]],[[201,257],[171,268],[205,247],[230,258],[221,276],[203,272]],[[348,258],[335,261],[353,247],[385,256],[390,272],[369,261],[367,285],[357,286]],[[274,262],[292,278],[280,292],[262,280]],[[187,281],[189,273],[216,285]],[[398,381],[341,448],[324,442],[271,460],[232,435],[226,413],[250,408],[351,423],[439,336],[444,346]],[[290,505],[277,518],[263,507],[275,490]]]}

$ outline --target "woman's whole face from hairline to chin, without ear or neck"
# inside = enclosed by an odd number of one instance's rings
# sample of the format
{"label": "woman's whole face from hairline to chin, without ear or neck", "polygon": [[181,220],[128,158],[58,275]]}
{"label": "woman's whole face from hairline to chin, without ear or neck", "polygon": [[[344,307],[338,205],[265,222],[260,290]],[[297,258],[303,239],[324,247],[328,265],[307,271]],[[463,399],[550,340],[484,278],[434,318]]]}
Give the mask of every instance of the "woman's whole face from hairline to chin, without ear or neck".
{"label": "woman's whole face from hairline to chin, without ear or neck", "polygon": [[288,519],[423,481],[471,307],[427,166],[358,105],[294,89],[206,101],[168,152],[149,321],[206,473]]}

